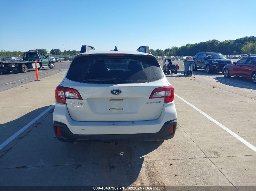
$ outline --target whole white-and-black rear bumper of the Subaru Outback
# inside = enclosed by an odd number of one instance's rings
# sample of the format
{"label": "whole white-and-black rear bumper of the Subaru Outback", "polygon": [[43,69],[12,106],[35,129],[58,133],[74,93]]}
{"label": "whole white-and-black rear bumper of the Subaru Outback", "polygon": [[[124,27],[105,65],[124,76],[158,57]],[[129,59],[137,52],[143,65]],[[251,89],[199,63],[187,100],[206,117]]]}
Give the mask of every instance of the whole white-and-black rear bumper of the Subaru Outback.
{"label": "whole white-and-black rear bumper of the Subaru Outback", "polygon": [[[67,105],[61,103],[55,103],[53,113],[53,126],[63,129],[62,136],[56,136],[62,141],[71,138],[71,141],[66,140],[66,142],[74,142],[75,139],[84,141],[166,140],[173,137],[176,124],[177,113],[174,101],[164,104],[158,119],[145,121],[75,121],[71,119]],[[175,126],[172,135],[168,129],[171,125]],[[56,128],[54,131],[56,134]]]}

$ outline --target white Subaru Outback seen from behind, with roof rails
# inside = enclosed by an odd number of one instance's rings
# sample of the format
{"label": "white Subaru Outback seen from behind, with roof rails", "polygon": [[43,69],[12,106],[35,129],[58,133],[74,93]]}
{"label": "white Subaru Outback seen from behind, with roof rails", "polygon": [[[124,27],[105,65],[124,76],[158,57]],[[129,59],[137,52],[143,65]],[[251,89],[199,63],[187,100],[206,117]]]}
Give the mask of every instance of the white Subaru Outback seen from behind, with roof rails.
{"label": "white Subaru Outback seen from behind, with roof rails", "polygon": [[83,45],[55,99],[60,141],[163,141],[175,134],[174,89],[148,46],[97,52]]}

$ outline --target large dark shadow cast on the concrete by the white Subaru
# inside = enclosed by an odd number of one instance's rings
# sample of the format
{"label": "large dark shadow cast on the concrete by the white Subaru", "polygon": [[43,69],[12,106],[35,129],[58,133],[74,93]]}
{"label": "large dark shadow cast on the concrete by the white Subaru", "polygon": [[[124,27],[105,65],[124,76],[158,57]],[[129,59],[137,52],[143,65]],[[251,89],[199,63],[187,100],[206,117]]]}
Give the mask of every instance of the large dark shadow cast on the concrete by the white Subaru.
{"label": "large dark shadow cast on the concrete by the white Subaru", "polygon": [[[5,140],[48,107],[0,125],[2,132],[19,126]],[[3,185],[129,186],[139,174],[143,177],[153,173],[148,170],[152,163],[145,163],[145,157],[163,142],[60,142],[53,131],[52,112],[48,111],[1,150]],[[135,184],[141,185],[140,180]]]}

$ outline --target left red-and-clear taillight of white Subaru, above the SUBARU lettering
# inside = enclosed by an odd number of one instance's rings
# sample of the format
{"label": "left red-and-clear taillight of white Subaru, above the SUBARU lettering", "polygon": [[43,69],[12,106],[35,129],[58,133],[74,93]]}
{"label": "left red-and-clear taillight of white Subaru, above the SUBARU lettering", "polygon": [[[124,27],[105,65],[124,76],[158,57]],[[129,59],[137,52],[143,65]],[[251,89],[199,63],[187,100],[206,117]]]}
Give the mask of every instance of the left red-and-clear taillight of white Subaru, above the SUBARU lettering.
{"label": "left red-and-clear taillight of white Subaru, above the SUBARU lettering", "polygon": [[66,104],[66,99],[82,100],[82,97],[76,89],[57,86],[55,89],[55,101]]}

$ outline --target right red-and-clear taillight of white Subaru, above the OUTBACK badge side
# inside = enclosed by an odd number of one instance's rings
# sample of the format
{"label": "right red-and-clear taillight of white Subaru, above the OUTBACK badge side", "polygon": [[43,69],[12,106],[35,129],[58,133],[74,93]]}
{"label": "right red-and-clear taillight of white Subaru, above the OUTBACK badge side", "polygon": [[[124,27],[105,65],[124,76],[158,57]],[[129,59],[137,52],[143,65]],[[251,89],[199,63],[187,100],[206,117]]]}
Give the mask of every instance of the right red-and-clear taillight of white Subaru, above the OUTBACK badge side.
{"label": "right red-and-clear taillight of white Subaru, above the OUTBACK badge side", "polygon": [[152,91],[149,99],[164,97],[164,103],[169,103],[174,100],[174,88],[172,86],[165,86],[156,88]]}

